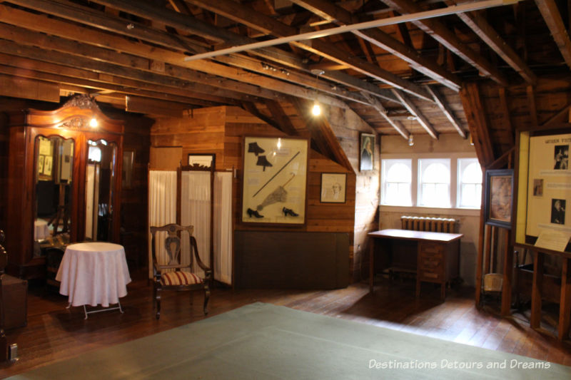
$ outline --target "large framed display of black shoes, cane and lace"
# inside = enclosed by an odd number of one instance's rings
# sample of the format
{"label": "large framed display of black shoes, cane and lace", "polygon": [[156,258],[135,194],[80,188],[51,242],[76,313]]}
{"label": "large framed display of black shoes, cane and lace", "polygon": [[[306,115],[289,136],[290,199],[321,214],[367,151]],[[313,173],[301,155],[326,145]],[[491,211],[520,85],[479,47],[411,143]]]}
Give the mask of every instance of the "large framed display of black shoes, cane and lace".
{"label": "large framed display of black shoes, cane and lace", "polygon": [[305,224],[307,139],[245,137],[242,168],[242,222]]}

